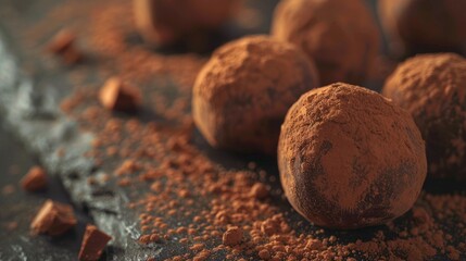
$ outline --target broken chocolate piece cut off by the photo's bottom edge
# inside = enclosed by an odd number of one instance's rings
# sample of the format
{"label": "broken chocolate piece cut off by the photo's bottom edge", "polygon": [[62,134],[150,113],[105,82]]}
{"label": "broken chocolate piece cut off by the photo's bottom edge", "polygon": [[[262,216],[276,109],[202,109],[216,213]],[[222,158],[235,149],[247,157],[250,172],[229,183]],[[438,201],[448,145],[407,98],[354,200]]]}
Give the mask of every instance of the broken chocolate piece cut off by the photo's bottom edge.
{"label": "broken chocolate piece cut off by the photo's bottom edge", "polygon": [[87,225],[78,259],[81,261],[99,260],[103,249],[111,239],[111,236],[99,231],[96,226]]}

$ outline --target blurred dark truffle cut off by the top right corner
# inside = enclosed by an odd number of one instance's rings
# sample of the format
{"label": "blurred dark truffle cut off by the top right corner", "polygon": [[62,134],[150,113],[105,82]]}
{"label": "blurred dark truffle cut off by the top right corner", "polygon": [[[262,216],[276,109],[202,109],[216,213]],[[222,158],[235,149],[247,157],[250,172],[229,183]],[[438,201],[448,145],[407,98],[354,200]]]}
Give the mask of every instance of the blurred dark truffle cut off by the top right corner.
{"label": "blurred dark truffle cut off by the top right corner", "polygon": [[466,1],[380,0],[379,16],[390,48],[413,52],[466,53]]}

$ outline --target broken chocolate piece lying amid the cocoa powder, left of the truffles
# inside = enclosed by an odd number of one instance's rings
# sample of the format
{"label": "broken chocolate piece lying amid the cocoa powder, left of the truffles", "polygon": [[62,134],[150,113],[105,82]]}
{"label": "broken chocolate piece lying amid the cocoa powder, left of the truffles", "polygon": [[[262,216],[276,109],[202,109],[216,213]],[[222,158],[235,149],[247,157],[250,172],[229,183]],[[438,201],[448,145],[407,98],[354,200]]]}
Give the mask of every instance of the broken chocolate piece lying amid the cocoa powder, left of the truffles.
{"label": "broken chocolate piece lying amid the cocoa powder, left of the truffles", "polygon": [[141,104],[142,96],[137,87],[112,77],[100,89],[99,100],[109,110],[136,111]]}

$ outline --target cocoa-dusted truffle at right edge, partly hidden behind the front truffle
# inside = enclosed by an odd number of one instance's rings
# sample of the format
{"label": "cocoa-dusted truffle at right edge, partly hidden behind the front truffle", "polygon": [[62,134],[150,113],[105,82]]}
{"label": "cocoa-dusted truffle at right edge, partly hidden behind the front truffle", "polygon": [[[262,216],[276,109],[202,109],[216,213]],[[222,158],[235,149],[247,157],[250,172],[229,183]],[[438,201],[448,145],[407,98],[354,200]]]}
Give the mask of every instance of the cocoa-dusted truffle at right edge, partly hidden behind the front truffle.
{"label": "cocoa-dusted truffle at right edge, partly hidden behind the front truffle", "polygon": [[466,179],[466,59],[423,54],[400,64],[383,95],[406,109],[427,147],[429,176]]}

